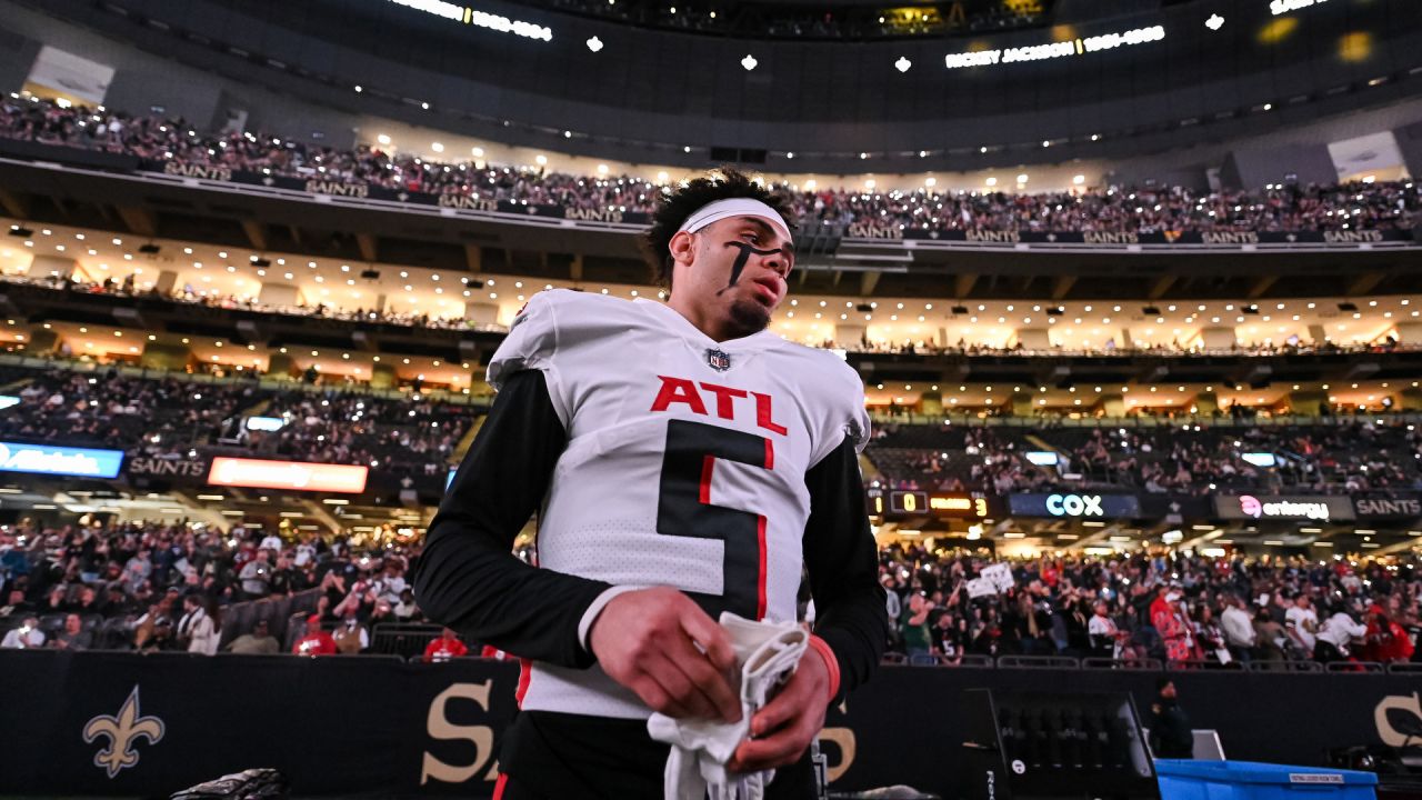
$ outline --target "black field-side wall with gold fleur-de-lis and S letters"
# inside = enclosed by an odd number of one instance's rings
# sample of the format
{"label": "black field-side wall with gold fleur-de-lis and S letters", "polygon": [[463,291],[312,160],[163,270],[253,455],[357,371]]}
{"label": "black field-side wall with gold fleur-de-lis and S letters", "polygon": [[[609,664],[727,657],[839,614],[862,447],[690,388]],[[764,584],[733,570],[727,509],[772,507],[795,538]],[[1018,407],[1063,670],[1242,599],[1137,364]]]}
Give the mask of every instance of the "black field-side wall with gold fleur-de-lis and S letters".
{"label": "black field-side wall with gold fleur-de-lis and S letters", "polygon": [[[1064,699],[1130,692],[1149,709],[1159,675],[882,668],[829,710],[820,747],[830,787],[904,783],[960,796],[964,690],[1058,686]],[[1217,730],[1230,759],[1321,766],[1331,747],[1399,746],[1399,729],[1422,720],[1415,675],[1170,676],[1193,726]],[[498,746],[516,713],[518,668],[481,659],[7,651],[0,680],[10,688],[0,712],[4,796],[166,797],[220,774],[273,767],[294,796],[489,797]]]}

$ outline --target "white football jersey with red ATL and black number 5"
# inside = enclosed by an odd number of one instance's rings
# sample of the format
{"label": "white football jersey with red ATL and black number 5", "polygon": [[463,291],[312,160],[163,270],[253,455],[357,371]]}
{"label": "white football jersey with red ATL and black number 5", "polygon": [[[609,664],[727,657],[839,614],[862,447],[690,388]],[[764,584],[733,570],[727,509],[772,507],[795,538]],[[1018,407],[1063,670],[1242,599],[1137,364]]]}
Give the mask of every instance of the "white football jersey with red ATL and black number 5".
{"label": "white football jersey with red ATL and black number 5", "polygon": [[[715,342],[663,303],[565,289],[515,317],[489,383],[543,372],[567,430],[539,515],[539,565],[675,586],[715,618],[795,619],[805,473],[869,440],[843,359],[761,332]],[[647,717],[599,668],[535,663],[525,709]]]}

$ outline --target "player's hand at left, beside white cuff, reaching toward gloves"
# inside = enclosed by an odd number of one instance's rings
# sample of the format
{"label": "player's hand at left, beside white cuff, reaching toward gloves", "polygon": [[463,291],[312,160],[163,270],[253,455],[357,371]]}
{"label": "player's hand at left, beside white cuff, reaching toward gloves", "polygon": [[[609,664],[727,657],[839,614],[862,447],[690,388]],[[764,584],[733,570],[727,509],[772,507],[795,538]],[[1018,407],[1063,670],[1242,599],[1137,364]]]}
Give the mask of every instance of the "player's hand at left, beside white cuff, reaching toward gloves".
{"label": "player's hand at left, beside white cuff, reaching toward gloves", "polygon": [[651,710],[677,719],[741,719],[741,699],[728,679],[735,669],[731,638],[677,589],[617,595],[597,615],[587,645],[603,670]]}

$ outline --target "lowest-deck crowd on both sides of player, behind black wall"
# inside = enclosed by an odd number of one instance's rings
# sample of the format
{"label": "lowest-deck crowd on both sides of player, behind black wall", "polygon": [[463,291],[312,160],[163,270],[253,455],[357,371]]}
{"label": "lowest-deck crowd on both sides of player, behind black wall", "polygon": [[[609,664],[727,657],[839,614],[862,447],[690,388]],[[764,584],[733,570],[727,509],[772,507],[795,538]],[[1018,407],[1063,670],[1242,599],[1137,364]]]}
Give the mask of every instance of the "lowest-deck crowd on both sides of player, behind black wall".
{"label": "lowest-deck crowd on both sides of player, behind black wall", "polygon": [[[422,622],[405,571],[417,544],[324,540],[242,525],[101,522],[0,528],[0,646],[336,655]],[[912,663],[1066,655],[1227,666],[1419,660],[1422,572],[1412,557],[1305,561],[1189,551],[1007,561],[880,548],[892,652]],[[296,598],[290,619],[252,601]],[[223,632],[225,619],[240,629]],[[425,631],[431,660],[468,655]],[[498,655],[493,651],[481,651]],[[418,655],[418,653],[415,653]]]}

